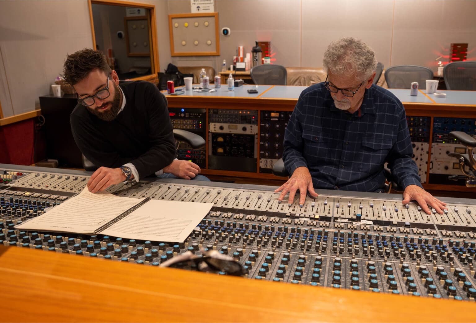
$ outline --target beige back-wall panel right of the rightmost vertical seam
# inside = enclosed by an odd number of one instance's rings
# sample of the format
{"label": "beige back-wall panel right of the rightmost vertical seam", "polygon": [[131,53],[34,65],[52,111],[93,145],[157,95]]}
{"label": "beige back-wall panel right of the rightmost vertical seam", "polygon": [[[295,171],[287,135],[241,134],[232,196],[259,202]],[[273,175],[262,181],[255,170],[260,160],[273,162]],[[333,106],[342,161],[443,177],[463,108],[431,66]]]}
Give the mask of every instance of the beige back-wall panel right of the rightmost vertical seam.
{"label": "beige back-wall panel right of the rightmost vertical seam", "polygon": [[476,1],[395,1],[392,65],[421,65],[437,70],[438,56],[448,62],[451,43],[468,43],[476,59]]}

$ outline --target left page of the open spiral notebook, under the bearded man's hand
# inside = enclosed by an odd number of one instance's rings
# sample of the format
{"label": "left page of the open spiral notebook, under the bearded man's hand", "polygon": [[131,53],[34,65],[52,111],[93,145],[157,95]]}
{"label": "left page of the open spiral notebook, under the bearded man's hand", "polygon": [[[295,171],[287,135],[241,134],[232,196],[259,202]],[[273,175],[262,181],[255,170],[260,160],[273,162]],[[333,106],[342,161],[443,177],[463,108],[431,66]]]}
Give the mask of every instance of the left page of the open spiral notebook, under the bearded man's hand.
{"label": "left page of the open spiral notebook, under the bearded man's hand", "polygon": [[77,196],[15,228],[91,234],[142,200],[119,197],[108,192],[93,194],[85,188]]}

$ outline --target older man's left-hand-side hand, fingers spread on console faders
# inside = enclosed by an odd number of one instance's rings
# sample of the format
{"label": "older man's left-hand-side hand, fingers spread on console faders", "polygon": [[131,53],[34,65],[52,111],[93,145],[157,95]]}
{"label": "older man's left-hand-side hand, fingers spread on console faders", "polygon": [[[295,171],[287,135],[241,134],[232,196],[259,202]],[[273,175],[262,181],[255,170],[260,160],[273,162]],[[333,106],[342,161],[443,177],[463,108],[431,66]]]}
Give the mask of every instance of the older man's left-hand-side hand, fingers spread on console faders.
{"label": "older man's left-hand-side hand, fingers spread on console faders", "polygon": [[294,196],[296,195],[296,191],[298,189],[300,192],[299,205],[303,205],[306,201],[307,190],[309,191],[309,194],[314,197],[317,197],[318,195],[314,191],[314,186],[312,185],[312,177],[307,167],[297,167],[297,169],[294,170],[289,180],[283,185],[281,185],[277,190],[275,190],[275,193],[278,193],[282,190],[281,195],[279,195],[278,197],[278,201],[281,201],[289,192],[288,203],[292,204],[292,202],[294,201]]}

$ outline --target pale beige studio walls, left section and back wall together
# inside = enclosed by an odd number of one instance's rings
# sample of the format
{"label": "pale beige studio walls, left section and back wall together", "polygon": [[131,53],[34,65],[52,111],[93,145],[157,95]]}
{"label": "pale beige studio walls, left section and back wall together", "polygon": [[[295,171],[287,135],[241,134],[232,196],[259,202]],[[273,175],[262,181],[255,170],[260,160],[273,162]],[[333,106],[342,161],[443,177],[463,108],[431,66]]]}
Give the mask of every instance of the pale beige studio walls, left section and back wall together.
{"label": "pale beige studio walls, left section and back wall together", "polygon": [[[372,46],[385,66],[413,64],[436,71],[435,58],[448,56],[452,42],[468,43],[476,60],[476,1],[216,0],[220,56],[171,57],[168,15],[189,13],[189,0],[141,0],[155,5],[159,63],[177,66],[231,64],[238,45],[245,53],[255,40],[271,41],[274,64],[322,66],[328,43],[344,36]],[[88,3],[0,0],[0,102],[4,117],[32,111],[50,92],[65,56],[92,47]],[[447,59],[446,59],[447,61]]]}

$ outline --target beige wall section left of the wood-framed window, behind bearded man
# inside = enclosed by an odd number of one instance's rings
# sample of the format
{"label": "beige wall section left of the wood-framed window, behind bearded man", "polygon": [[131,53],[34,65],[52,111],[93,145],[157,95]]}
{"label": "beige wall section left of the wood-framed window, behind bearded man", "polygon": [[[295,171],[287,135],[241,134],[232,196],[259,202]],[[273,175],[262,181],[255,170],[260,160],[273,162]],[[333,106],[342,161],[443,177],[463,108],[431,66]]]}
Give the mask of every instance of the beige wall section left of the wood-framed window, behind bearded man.
{"label": "beige wall section left of the wood-framed window, behind bearded man", "polygon": [[3,116],[35,110],[64,58],[92,47],[86,1],[0,1]]}

